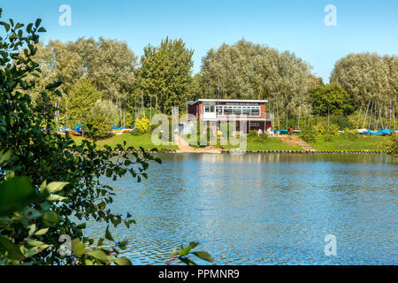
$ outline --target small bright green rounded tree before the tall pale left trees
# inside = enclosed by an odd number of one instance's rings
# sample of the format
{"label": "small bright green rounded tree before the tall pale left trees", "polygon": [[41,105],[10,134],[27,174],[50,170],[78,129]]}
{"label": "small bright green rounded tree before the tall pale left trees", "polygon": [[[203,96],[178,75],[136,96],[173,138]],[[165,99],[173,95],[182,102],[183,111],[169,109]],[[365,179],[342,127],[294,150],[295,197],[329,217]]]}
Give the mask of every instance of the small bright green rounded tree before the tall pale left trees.
{"label": "small bright green rounded tree before the tall pale left trees", "polygon": [[101,93],[88,79],[77,81],[69,91],[66,103],[67,115],[71,123],[82,123],[100,98]]}

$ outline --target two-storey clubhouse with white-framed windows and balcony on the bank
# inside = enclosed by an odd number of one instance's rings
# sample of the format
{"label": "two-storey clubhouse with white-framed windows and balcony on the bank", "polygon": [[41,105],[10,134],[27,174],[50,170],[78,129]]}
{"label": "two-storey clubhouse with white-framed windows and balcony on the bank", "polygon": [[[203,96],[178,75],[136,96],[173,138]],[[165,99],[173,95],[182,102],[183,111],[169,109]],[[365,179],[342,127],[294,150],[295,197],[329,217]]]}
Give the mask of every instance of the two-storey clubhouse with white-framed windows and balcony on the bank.
{"label": "two-storey clubhouse with white-framed windows and balcony on the bank", "polygon": [[214,126],[235,119],[237,131],[243,121],[247,123],[248,133],[260,129],[265,133],[274,119],[272,113],[266,112],[267,103],[267,100],[199,99],[188,102],[188,114]]}

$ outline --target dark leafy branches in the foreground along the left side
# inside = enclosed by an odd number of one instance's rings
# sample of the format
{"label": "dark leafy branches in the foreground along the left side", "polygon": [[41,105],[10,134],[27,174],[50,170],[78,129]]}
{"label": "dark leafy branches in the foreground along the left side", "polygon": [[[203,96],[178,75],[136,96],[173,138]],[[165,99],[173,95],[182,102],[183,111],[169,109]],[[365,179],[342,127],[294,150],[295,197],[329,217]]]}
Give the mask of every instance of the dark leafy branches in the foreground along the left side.
{"label": "dark leafy branches in the foreground along the left side", "polygon": [[[113,241],[111,250],[102,241],[86,248],[95,240],[85,236],[82,221],[128,228],[134,219],[109,208],[115,193],[103,177],[130,173],[140,182],[148,178],[149,162],[161,160],[142,148],[130,154],[126,142],[98,150],[96,142],[77,145],[57,135],[54,105],[62,82],[47,85],[35,103],[27,94],[42,73],[34,62],[38,34],[45,31],[41,22],[23,28],[12,19],[0,21],[0,264],[129,264],[118,256],[126,241]],[[79,239],[71,256],[57,252],[61,235]],[[105,239],[112,241],[109,235],[107,230]]]}

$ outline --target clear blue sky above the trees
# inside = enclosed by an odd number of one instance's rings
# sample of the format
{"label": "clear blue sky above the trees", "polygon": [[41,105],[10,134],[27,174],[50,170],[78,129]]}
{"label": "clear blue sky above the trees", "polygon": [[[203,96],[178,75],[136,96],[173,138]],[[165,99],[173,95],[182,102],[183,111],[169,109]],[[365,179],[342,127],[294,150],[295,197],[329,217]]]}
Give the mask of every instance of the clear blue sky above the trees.
{"label": "clear blue sky above the trees", "polygon": [[[72,8],[71,27],[58,24],[62,4]],[[336,27],[325,26],[327,4],[337,8]],[[195,73],[210,48],[242,38],[295,52],[325,82],[348,53],[398,53],[398,0],[0,0],[0,7],[5,19],[42,18],[44,42],[103,36],[141,56],[167,35],[182,38],[195,50]]]}

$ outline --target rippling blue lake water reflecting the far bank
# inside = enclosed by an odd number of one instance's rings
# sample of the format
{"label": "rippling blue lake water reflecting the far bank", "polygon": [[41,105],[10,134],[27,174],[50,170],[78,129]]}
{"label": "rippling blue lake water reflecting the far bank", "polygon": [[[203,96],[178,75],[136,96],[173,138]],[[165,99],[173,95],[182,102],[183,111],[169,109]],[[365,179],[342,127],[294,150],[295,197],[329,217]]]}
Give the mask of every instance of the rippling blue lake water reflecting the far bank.
{"label": "rippling blue lake water reflecting the far bank", "polygon": [[[198,241],[216,264],[398,264],[398,167],[387,156],[159,155],[149,179],[111,182],[136,225],[134,264],[166,264]],[[103,236],[105,225],[88,233]],[[325,235],[337,256],[325,256]],[[203,262],[198,261],[199,264]]]}

